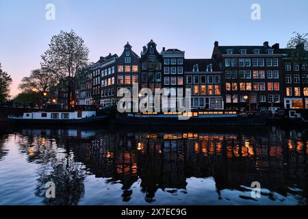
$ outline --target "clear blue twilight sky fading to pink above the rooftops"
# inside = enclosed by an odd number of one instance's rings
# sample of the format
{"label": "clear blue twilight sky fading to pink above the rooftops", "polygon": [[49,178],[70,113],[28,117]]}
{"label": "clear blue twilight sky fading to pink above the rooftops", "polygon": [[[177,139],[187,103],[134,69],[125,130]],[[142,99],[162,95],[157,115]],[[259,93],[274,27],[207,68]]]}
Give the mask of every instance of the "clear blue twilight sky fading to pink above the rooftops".
{"label": "clear blue twilight sky fading to pink above the rooftops", "polygon": [[[47,21],[47,3],[55,20]],[[251,5],[261,6],[261,21],[251,19]],[[74,29],[90,49],[89,59],[120,53],[127,41],[140,54],[153,39],[158,50],[178,48],[188,58],[211,57],[220,45],[285,47],[293,31],[308,32],[308,1],[293,0],[0,0],[0,62],[12,75],[11,94],[31,70],[51,36]]]}

